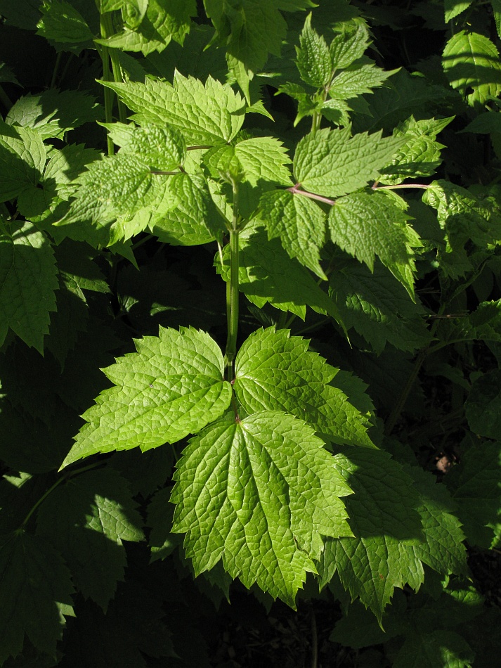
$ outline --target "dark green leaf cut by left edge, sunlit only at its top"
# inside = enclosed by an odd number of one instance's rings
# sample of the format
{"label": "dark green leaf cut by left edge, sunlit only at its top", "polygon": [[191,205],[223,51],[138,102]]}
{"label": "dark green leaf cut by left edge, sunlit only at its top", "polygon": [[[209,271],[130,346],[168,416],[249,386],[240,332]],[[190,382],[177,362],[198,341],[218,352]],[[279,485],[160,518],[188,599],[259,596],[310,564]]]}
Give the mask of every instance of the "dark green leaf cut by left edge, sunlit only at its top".
{"label": "dark green leaf cut by left edge, sunlit only at its top", "polygon": [[56,310],[56,263],[48,238],[31,223],[0,219],[0,321],[41,354]]}

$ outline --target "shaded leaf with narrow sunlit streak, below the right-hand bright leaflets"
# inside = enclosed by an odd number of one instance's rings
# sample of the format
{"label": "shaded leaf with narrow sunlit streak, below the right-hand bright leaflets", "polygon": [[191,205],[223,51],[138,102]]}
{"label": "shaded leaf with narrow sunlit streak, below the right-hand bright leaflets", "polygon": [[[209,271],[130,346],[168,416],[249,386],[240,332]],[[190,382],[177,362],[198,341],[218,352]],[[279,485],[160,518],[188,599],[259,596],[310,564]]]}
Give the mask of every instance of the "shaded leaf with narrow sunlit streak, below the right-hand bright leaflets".
{"label": "shaded leaf with narrow sunlit streak, below the right-hand bright leaflets", "polygon": [[386,343],[414,352],[431,342],[421,304],[410,300],[381,263],[370,272],[350,262],[331,274],[330,291],[346,328],[355,328],[377,354]]}

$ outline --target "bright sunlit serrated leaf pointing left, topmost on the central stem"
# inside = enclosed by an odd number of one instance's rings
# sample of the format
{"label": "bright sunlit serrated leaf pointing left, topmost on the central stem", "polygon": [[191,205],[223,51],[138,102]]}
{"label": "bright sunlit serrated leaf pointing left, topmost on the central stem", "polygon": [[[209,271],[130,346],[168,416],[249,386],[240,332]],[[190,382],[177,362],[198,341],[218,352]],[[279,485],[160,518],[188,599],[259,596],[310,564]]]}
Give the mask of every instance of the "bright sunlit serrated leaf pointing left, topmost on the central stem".
{"label": "bright sunlit serrated leaf pointing left, topmost on the central stem", "polygon": [[115,91],[139,124],[169,124],[188,143],[220,144],[233,139],[244,121],[245,101],[228,84],[208,77],[202,82],[176,72],[174,84],[146,79],[116,84],[102,82]]}

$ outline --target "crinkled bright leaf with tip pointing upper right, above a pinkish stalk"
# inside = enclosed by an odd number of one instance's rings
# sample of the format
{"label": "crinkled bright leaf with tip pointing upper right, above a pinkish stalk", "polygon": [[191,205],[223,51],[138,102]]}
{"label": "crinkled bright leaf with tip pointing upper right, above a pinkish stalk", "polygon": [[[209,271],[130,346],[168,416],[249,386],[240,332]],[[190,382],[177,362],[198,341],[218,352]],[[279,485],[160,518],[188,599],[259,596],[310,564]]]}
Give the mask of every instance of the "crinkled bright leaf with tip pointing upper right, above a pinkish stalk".
{"label": "crinkled bright leaf with tip pointing upper right, above a pinkish stalk", "polygon": [[405,179],[431,176],[441,164],[441,149],[436,136],[451,121],[453,116],[435,120],[416,121],[408,118],[393,131],[394,136],[405,136],[405,144],[391,159],[391,165],[381,170],[379,181],[383,184],[401,184]]}

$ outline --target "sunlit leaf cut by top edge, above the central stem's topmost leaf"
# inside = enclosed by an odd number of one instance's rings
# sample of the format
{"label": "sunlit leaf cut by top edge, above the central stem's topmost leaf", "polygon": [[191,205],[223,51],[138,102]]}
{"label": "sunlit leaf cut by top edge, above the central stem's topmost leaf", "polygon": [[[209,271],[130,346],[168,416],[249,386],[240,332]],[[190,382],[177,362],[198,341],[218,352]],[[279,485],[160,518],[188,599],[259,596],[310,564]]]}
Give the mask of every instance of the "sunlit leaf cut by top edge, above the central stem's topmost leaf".
{"label": "sunlit leaf cut by top edge, above the central stem's topmost leaf", "polygon": [[183,44],[197,13],[195,0],[148,0],[141,7],[127,2],[122,7],[122,32],[96,41],[112,49],[141,51],[143,56],[163,51],[171,39]]}

